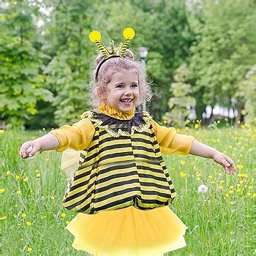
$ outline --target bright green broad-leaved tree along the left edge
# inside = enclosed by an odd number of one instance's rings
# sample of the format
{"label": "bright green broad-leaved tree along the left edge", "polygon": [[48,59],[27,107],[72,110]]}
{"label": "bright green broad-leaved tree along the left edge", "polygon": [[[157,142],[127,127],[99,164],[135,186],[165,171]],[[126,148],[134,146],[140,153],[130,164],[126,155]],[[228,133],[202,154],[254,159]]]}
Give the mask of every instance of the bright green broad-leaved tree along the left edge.
{"label": "bright green broad-leaved tree along the left edge", "polygon": [[39,100],[52,101],[53,95],[43,88],[33,12],[26,3],[11,2],[0,12],[0,111],[10,126],[20,126],[37,113]]}

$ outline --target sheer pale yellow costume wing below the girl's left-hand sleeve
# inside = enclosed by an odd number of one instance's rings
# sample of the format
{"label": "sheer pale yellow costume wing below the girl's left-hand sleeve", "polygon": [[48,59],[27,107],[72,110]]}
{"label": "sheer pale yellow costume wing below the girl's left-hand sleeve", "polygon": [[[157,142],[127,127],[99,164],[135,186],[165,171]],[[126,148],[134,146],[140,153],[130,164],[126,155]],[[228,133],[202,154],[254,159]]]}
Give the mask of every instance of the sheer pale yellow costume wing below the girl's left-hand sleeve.
{"label": "sheer pale yellow costume wing below the girl's left-hand sleeve", "polygon": [[72,178],[75,170],[78,168],[79,157],[81,151],[76,151],[72,148],[67,148],[61,157],[61,170],[67,178]]}

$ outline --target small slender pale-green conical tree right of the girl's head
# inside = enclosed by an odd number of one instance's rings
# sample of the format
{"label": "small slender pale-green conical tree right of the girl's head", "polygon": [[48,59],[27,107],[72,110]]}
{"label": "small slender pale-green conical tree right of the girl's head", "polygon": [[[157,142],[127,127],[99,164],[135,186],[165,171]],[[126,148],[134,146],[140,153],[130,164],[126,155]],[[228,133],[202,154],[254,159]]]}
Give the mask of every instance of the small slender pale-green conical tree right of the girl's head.
{"label": "small slender pale-green conical tree right of the girl's head", "polygon": [[185,83],[187,80],[187,65],[181,64],[174,75],[174,83],[170,85],[170,97],[168,106],[169,111],[163,116],[165,124],[176,125],[184,127],[186,118],[189,116],[190,108],[195,108],[196,100],[193,97],[189,97],[191,93],[191,85]]}

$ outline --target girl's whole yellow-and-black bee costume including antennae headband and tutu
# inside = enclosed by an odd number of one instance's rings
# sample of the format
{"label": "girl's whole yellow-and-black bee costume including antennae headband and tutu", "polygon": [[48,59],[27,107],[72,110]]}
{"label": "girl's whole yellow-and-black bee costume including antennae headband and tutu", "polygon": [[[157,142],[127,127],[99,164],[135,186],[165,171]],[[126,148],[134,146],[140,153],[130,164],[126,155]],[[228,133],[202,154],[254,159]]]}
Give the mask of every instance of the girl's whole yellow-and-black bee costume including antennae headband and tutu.
{"label": "girl's whole yellow-and-black bee costume including antennae headband and tutu", "polygon": [[[98,31],[90,39],[105,62],[122,58],[134,35],[125,29],[124,45],[111,53]],[[50,133],[59,140],[56,151],[64,151],[61,167],[69,176],[63,206],[79,212],[66,227],[75,249],[155,256],[187,245],[187,227],[168,207],[176,192],[162,154],[189,154],[191,136],[160,126],[147,112],[123,113],[105,104]]]}

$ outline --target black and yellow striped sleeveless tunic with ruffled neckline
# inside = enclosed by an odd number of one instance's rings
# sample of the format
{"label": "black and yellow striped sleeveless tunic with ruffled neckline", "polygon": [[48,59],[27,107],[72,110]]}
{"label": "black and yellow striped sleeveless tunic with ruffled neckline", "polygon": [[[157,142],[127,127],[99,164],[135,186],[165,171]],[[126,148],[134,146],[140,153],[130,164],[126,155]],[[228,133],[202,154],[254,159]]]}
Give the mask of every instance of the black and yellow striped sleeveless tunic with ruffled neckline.
{"label": "black and yellow striped sleeveless tunic with ruffled neckline", "polygon": [[93,112],[84,117],[90,118],[95,133],[67,184],[64,207],[95,214],[171,203],[176,192],[148,113],[135,113],[133,125],[129,121],[116,125],[115,118]]}

